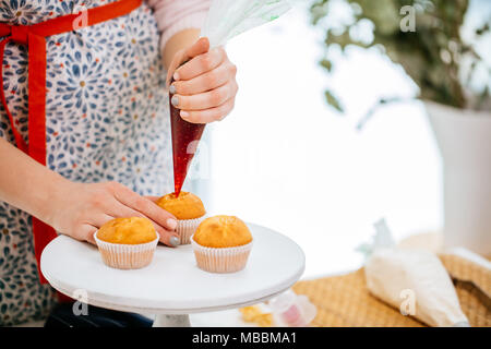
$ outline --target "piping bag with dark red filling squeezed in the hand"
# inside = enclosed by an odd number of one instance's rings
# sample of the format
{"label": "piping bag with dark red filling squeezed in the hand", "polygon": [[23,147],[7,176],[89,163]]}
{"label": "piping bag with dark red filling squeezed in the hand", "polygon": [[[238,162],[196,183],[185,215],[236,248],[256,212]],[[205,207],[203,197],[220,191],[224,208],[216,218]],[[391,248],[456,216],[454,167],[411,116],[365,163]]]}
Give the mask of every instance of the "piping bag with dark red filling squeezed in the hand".
{"label": "piping bag with dark red filling squeezed in the hand", "polygon": [[[276,20],[290,8],[291,0],[214,0],[201,36],[208,38],[211,49],[219,47],[246,31]],[[179,196],[205,124],[183,120],[171,98],[169,93],[173,189]]]}

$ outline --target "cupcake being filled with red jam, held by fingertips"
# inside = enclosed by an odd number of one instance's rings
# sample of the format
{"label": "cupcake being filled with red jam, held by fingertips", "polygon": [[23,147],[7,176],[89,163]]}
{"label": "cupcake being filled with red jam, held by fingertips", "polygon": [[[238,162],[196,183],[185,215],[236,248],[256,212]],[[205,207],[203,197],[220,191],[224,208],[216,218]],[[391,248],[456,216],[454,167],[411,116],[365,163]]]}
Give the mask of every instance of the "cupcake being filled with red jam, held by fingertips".
{"label": "cupcake being filled with red jam, held by fingertips", "polygon": [[206,214],[201,198],[188,192],[181,192],[179,196],[170,193],[157,200],[157,205],[177,218],[176,232],[179,234],[179,243],[190,243],[191,236]]}

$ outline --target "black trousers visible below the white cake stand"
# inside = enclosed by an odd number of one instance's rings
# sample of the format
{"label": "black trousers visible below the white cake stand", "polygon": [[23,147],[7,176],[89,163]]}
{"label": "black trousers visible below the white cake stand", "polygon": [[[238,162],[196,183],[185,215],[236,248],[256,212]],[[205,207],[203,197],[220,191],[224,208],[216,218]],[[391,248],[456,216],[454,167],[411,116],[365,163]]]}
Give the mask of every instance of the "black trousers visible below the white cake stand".
{"label": "black trousers visible below the white cake stand", "polygon": [[[77,306],[79,308],[79,306]],[[45,327],[152,327],[153,321],[134,313],[87,305],[86,315],[75,315],[73,302],[58,304]]]}

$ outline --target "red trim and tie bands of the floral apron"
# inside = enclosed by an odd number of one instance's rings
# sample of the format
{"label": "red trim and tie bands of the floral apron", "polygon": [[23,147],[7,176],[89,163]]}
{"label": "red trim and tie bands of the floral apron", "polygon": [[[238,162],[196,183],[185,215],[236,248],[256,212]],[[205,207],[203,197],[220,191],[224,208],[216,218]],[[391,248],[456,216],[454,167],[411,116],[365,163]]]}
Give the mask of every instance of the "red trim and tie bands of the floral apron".
{"label": "red trim and tie bands of the floral apron", "polygon": [[[137,9],[142,0],[119,0],[86,10],[86,26],[106,22],[125,15]],[[81,13],[68,14],[33,25],[11,25],[0,23],[0,100],[9,117],[15,144],[33,159],[46,166],[46,37],[72,32]],[[3,57],[7,44],[14,41],[27,45],[28,50],[28,144],[19,132],[7,104],[3,91]],[[58,234],[55,229],[33,217],[34,252],[36,255],[39,280],[47,280],[40,272],[40,255],[45,246]]]}

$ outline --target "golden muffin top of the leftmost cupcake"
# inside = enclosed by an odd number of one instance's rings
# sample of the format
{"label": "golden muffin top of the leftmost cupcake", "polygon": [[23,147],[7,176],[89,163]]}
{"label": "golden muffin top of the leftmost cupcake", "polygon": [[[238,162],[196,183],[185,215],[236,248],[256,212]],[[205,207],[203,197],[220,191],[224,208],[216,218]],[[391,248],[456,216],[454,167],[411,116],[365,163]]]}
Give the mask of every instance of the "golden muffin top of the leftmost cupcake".
{"label": "golden muffin top of the leftmost cupcake", "polygon": [[97,239],[121,244],[139,244],[157,238],[154,225],[148,218],[115,218],[104,224],[97,231]]}

